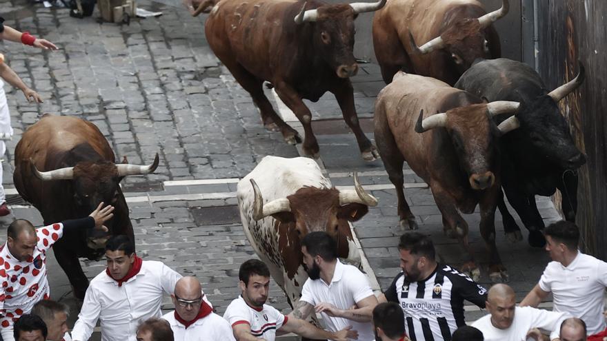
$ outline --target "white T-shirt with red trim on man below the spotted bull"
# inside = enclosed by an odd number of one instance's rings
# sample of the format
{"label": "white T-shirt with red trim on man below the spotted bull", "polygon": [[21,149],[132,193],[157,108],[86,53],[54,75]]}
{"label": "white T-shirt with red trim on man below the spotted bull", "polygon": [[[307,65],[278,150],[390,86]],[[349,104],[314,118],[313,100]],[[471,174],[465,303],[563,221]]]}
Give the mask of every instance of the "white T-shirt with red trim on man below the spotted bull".
{"label": "white T-shirt with red trim on man below the spotted bull", "polygon": [[266,341],[274,341],[276,331],[288,321],[288,318],[274,307],[268,304],[263,304],[261,309],[251,307],[242,296],[228,305],[223,318],[228,320],[232,328],[241,323],[250,325],[251,334]]}

